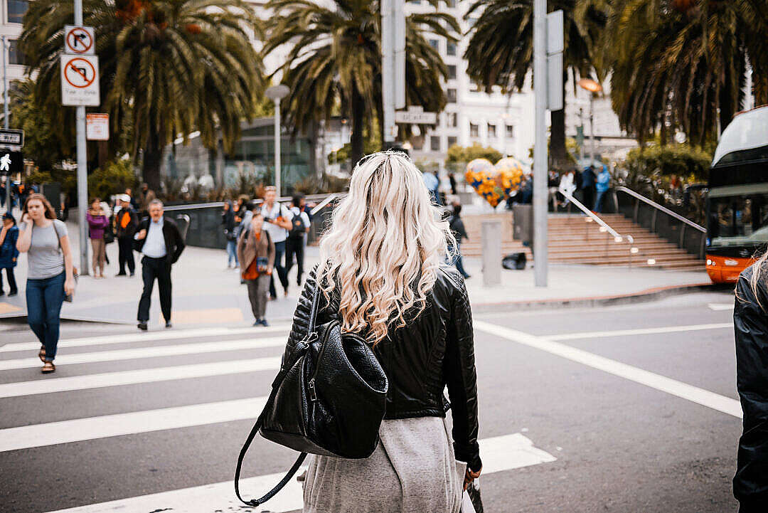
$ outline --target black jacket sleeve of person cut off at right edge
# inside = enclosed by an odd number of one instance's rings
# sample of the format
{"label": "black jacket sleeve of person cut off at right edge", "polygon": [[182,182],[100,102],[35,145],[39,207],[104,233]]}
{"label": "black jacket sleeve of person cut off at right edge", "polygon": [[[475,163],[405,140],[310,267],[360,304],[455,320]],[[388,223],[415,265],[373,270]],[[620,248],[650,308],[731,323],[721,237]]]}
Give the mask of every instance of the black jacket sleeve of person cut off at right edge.
{"label": "black jacket sleeve of person cut off at right edge", "polygon": [[[737,389],[743,409],[743,434],[733,477],[740,513],[765,511],[768,504],[768,313],[750,287],[751,272],[750,268],[740,276],[733,308]],[[768,309],[762,286],[760,303]]]}

